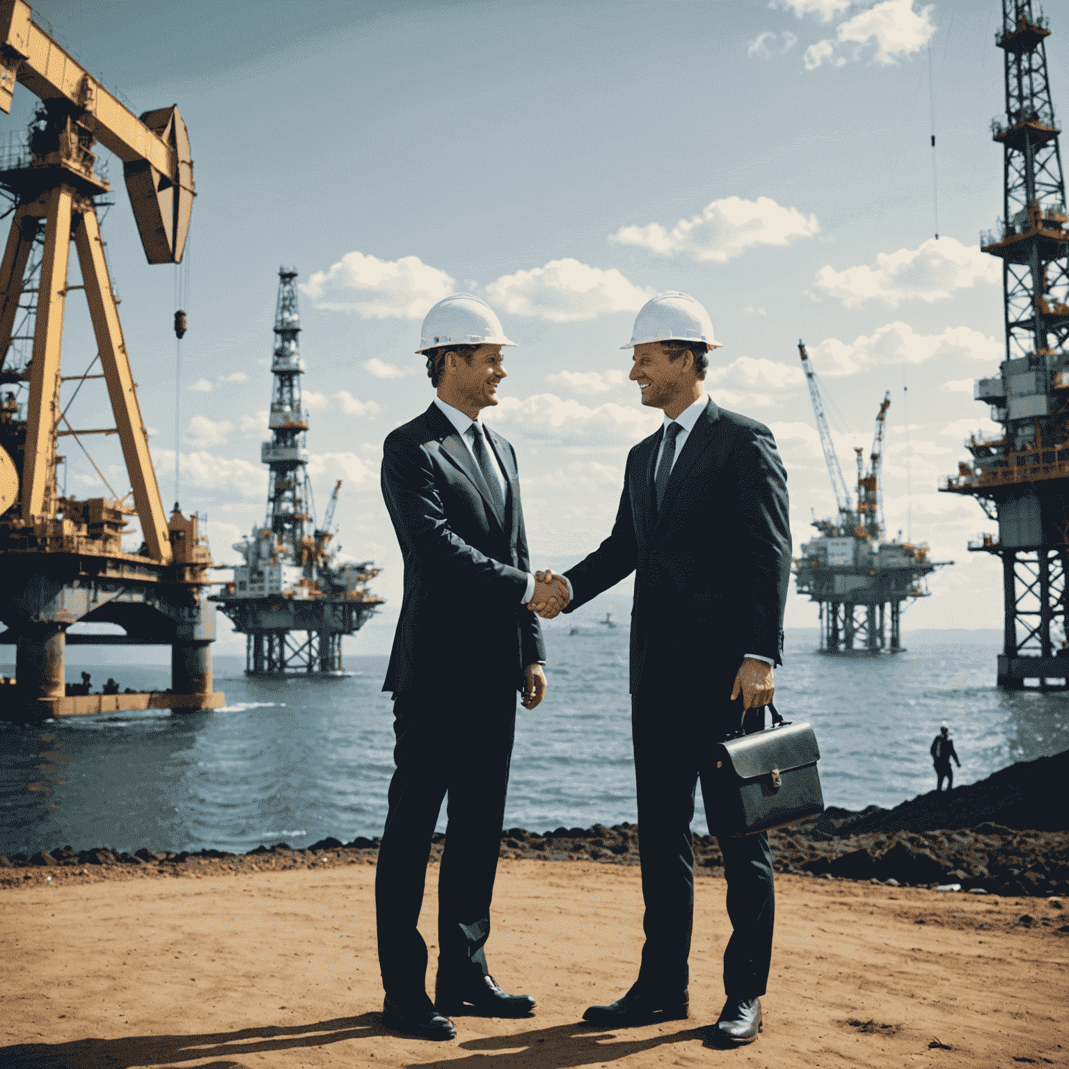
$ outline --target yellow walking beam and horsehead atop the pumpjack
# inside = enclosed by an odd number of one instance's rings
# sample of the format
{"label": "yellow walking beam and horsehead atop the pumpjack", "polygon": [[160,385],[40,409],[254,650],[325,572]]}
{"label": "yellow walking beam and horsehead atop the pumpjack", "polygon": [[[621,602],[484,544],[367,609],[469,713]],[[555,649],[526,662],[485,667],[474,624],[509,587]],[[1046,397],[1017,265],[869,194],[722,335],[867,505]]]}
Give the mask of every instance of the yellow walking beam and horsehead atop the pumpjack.
{"label": "yellow walking beam and horsehead atop the pumpjack", "polygon": [[[193,165],[177,108],[135,115],[32,20],[26,0],[0,0],[0,109],[19,81],[46,107],[63,107],[123,161],[149,263],[181,263],[193,203]],[[92,172],[91,159],[87,161]]]}

